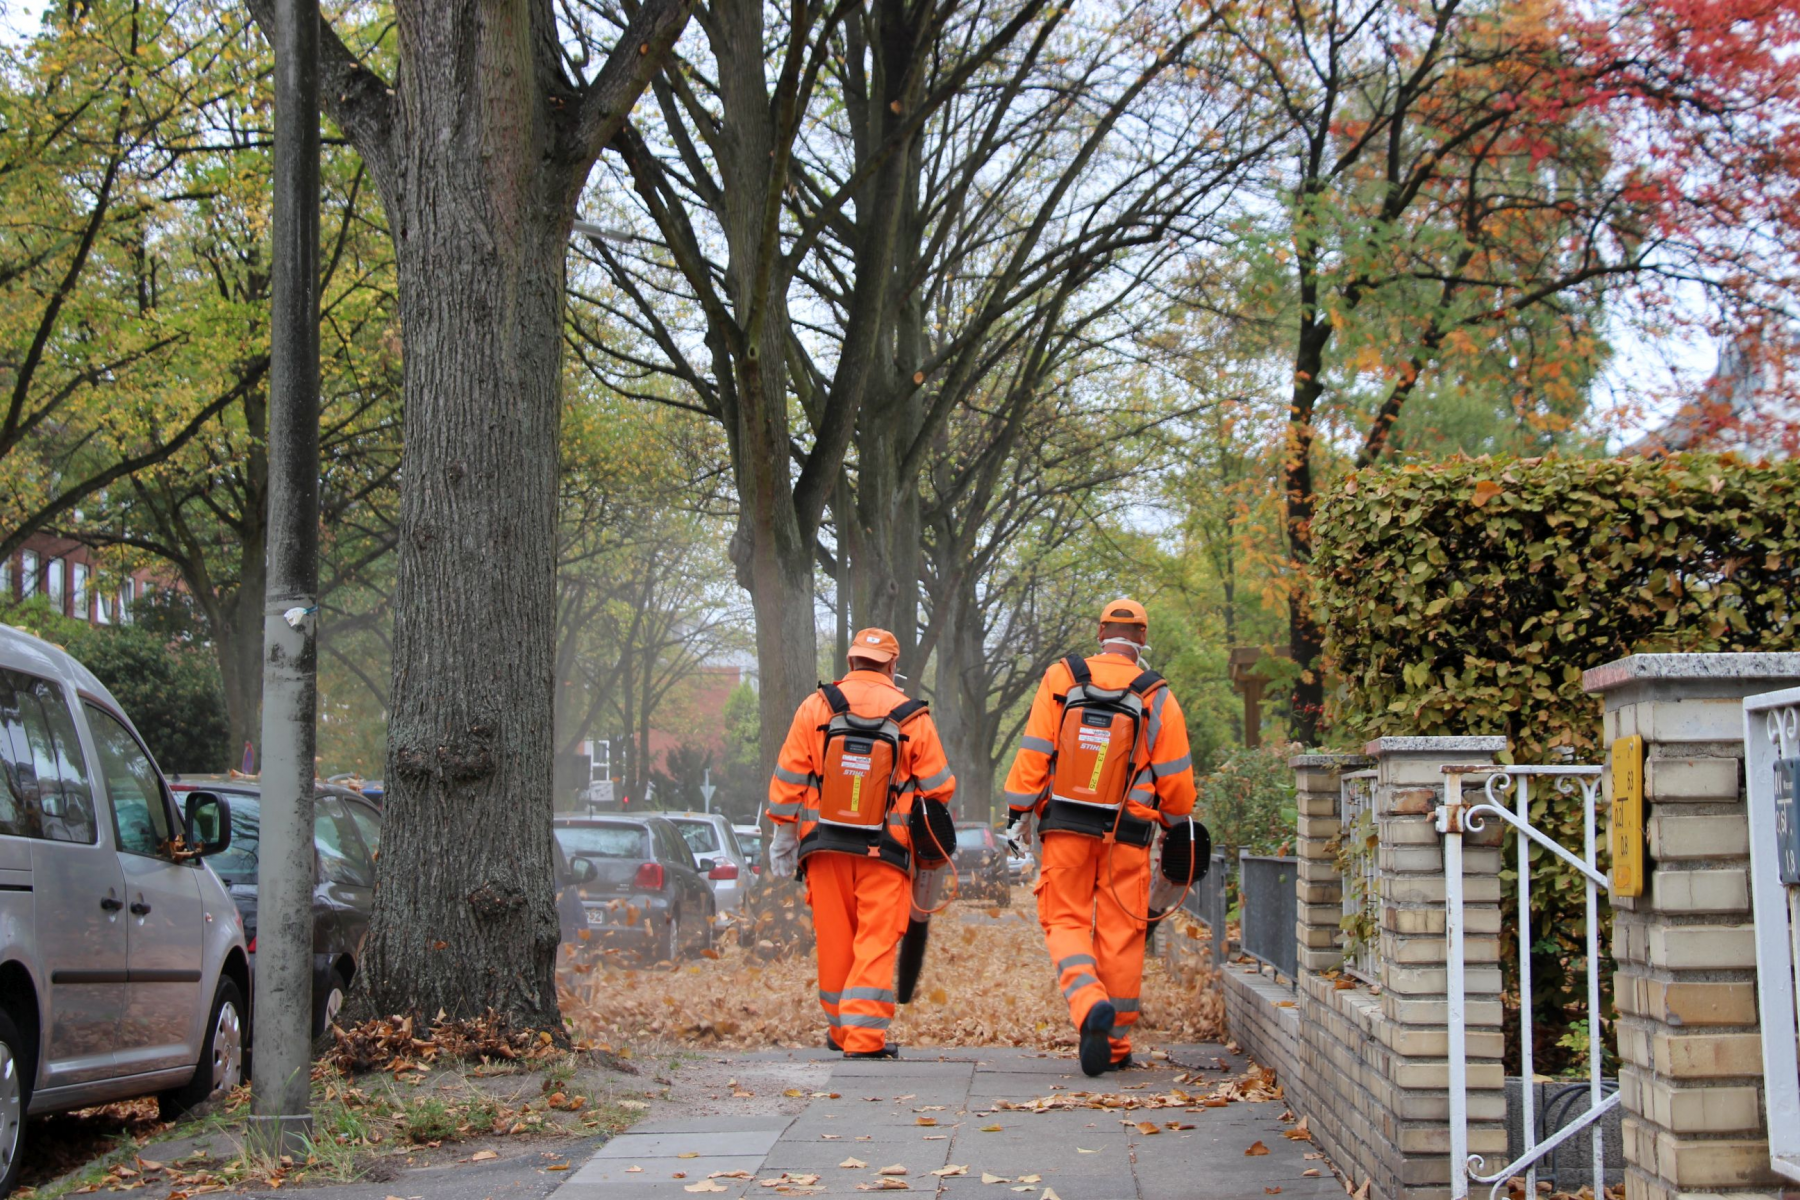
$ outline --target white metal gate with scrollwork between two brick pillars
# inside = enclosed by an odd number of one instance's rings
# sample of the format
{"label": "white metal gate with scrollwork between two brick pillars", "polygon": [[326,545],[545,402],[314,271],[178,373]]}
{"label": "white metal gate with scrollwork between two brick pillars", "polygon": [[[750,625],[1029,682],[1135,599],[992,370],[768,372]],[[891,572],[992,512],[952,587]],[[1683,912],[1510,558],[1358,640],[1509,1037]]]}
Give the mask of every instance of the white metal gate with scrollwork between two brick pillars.
{"label": "white metal gate with scrollwork between two brick pillars", "polygon": [[[1618,1105],[1618,1092],[1604,1094],[1600,1081],[1600,889],[1607,876],[1600,871],[1597,810],[1600,806],[1598,766],[1445,766],[1445,802],[1438,806],[1438,833],[1444,835],[1444,939],[1449,991],[1449,1101],[1451,1101],[1451,1196],[1467,1200],[1471,1184],[1487,1184],[1489,1196],[1498,1196],[1516,1175],[1525,1175],[1525,1195],[1537,1195],[1537,1164],[1557,1146],[1593,1130],[1593,1195],[1606,1195],[1606,1150],[1600,1135],[1600,1117]],[[1483,797],[1463,799],[1463,783],[1471,774],[1485,774]],[[1553,788],[1570,799],[1580,797],[1582,855],[1577,856],[1555,838],[1530,822],[1532,788]],[[1510,804],[1508,804],[1510,801]],[[1489,817],[1505,820],[1517,831],[1519,869],[1519,1074],[1525,1085],[1521,1124],[1525,1153],[1492,1173],[1481,1155],[1469,1153],[1469,1054],[1465,1018],[1469,1013],[1467,981],[1463,975],[1463,831],[1480,833]],[[1588,885],[1588,1110],[1566,1126],[1537,1141],[1535,1094],[1532,1088],[1532,842],[1579,871]],[[1793,1022],[1789,1020],[1789,1029]]]}

